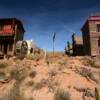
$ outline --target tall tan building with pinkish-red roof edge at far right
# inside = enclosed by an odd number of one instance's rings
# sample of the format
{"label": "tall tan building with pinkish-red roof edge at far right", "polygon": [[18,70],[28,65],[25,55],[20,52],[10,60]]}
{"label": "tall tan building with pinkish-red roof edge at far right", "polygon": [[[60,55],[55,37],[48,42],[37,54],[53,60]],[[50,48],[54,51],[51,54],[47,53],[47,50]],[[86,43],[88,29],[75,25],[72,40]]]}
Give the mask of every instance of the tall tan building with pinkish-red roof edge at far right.
{"label": "tall tan building with pinkish-red roof edge at far right", "polygon": [[84,54],[100,55],[100,15],[89,16],[81,30]]}

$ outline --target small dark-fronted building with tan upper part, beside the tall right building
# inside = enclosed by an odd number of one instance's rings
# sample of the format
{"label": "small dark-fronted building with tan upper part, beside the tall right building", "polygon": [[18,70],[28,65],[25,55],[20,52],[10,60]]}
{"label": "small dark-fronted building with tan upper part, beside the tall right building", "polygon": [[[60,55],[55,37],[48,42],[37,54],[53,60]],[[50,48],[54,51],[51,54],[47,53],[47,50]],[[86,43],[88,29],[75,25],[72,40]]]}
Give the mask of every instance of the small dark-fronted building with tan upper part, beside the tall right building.
{"label": "small dark-fronted building with tan upper part, beside the tall right building", "polygon": [[73,56],[83,56],[83,39],[82,36],[76,36],[74,33],[72,35],[72,49]]}

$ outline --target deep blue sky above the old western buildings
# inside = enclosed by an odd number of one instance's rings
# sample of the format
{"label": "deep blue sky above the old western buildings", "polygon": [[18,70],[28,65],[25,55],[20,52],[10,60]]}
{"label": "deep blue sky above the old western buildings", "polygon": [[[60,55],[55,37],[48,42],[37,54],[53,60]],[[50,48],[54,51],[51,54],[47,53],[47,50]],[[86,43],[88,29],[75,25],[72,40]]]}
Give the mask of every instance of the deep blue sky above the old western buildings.
{"label": "deep blue sky above the old western buildings", "polygon": [[42,49],[64,51],[71,35],[81,35],[89,15],[100,13],[100,0],[0,0],[0,18],[18,18],[25,28],[24,40]]}

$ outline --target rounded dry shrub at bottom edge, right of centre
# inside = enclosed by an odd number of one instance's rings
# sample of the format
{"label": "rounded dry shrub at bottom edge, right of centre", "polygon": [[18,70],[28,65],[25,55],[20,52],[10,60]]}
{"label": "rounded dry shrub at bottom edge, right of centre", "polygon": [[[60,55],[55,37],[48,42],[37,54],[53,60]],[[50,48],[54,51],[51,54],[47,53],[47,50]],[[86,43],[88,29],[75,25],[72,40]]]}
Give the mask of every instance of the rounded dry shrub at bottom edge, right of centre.
{"label": "rounded dry shrub at bottom edge, right of centre", "polygon": [[64,89],[57,89],[54,95],[54,100],[70,100],[68,91]]}

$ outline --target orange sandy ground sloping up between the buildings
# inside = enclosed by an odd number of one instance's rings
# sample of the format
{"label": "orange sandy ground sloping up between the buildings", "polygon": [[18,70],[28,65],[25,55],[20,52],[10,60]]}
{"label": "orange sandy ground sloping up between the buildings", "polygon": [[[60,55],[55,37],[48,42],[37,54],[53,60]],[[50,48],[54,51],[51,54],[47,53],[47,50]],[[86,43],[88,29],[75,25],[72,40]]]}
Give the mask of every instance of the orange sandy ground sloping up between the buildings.
{"label": "orange sandy ground sloping up between the buildings", "polygon": [[[11,65],[14,67],[16,62],[22,65],[22,68],[26,67],[27,71],[36,72],[33,78],[28,74],[20,82],[20,95],[23,100],[54,100],[54,94],[59,88],[68,91],[70,100],[95,100],[92,96],[83,97],[84,91],[77,89],[89,88],[90,93],[94,96],[95,87],[100,88],[100,68],[84,64],[84,57],[68,57],[61,54],[55,55],[52,59],[50,56],[39,61],[24,59],[12,62]],[[77,69],[82,68],[90,70],[92,73],[98,73],[95,75],[98,82],[77,72]],[[29,82],[33,83],[28,85]]]}

